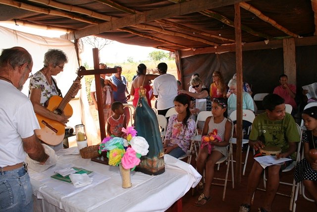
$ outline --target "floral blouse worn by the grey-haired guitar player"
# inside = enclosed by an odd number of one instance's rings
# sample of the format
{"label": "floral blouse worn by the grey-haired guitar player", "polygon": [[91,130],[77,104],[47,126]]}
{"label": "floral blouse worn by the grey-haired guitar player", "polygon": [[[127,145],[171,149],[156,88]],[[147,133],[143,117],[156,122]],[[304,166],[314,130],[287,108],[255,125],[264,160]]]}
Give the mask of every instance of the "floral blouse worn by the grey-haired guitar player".
{"label": "floral blouse worn by the grey-haired guitar player", "polygon": [[[55,80],[53,77],[52,79]],[[46,80],[45,75],[42,73],[42,71],[36,72],[35,74],[33,74],[33,77],[30,79],[29,90],[31,90],[32,88],[41,89],[40,103],[43,106],[45,105],[46,101],[50,99],[52,96],[58,95],[58,92],[54,83],[50,85],[49,82]]]}

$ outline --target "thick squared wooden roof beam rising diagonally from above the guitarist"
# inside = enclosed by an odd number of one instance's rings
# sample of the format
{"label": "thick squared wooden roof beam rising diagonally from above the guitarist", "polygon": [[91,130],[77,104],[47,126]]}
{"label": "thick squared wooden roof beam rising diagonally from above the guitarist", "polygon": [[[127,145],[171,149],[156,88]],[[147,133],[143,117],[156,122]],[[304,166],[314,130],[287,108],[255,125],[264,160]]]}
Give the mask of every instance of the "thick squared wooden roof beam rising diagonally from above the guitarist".
{"label": "thick squared wooden roof beam rising diagonally from above the guitarist", "polygon": [[100,23],[94,26],[87,27],[82,30],[77,30],[72,34],[65,35],[67,39],[74,40],[89,35],[100,34],[116,30],[119,28],[127,27],[130,25],[136,25],[155,21],[159,19],[165,19],[184,14],[189,14],[205,9],[212,9],[216,7],[232,5],[247,0],[191,0],[178,4],[172,4],[143,13],[131,14],[118,19],[111,19],[110,21]]}

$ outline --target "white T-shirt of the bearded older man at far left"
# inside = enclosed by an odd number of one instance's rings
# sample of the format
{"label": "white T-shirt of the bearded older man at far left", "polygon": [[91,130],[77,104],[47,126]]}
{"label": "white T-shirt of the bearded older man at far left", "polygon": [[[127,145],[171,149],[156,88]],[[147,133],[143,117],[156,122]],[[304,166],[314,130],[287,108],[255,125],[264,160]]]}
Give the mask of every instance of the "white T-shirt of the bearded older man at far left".
{"label": "white T-shirt of the bearded older man at far left", "polygon": [[10,82],[0,80],[0,167],[25,161],[22,138],[40,129],[30,99]]}

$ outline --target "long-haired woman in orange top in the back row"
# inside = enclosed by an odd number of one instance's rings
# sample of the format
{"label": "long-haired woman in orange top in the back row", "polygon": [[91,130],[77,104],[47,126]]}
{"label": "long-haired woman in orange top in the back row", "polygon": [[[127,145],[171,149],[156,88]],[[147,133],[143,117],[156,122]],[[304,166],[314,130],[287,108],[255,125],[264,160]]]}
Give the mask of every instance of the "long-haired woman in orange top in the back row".
{"label": "long-haired woman in orange top in the back row", "polygon": [[211,98],[226,98],[226,85],[220,71],[213,71],[212,83],[210,85]]}

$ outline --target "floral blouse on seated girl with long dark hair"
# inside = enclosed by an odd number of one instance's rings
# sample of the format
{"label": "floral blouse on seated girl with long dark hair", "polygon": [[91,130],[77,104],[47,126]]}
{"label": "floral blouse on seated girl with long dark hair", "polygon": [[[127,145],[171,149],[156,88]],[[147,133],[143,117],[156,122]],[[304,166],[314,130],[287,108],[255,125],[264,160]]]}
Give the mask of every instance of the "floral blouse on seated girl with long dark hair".
{"label": "floral blouse on seated girl with long dark hair", "polygon": [[187,128],[182,122],[177,121],[177,114],[169,117],[165,139],[168,145],[177,144],[184,152],[189,149],[189,144],[196,131],[196,123],[192,118],[187,120]]}

